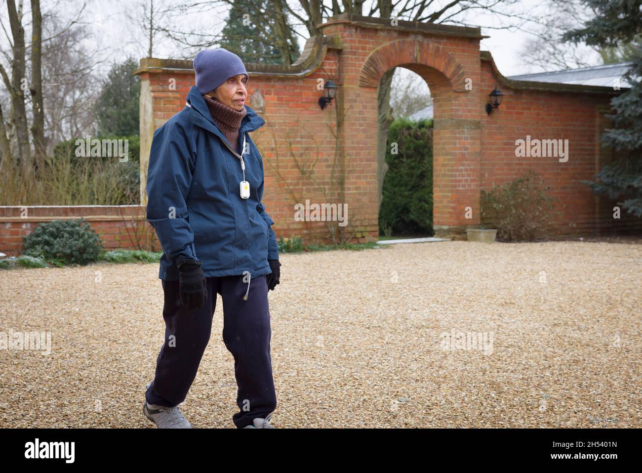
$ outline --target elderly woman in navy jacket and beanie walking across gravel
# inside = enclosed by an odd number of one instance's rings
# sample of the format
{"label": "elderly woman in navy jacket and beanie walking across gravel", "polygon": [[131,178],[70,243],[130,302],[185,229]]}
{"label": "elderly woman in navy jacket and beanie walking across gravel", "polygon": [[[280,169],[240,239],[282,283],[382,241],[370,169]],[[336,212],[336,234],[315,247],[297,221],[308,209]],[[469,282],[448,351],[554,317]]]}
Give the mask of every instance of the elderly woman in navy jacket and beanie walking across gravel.
{"label": "elderly woman in navy jacket and beanie walking across gravel", "polygon": [[165,342],[143,411],[159,428],[191,427],[178,404],[196,377],[220,294],[238,384],[232,420],[272,428],[268,290],[279,284],[281,263],[261,203],[263,160],[249,136],[265,121],[245,105],[248,74],[237,55],[206,49],[193,65],[186,106],[155,130],[150,151],[147,220],[163,250]]}

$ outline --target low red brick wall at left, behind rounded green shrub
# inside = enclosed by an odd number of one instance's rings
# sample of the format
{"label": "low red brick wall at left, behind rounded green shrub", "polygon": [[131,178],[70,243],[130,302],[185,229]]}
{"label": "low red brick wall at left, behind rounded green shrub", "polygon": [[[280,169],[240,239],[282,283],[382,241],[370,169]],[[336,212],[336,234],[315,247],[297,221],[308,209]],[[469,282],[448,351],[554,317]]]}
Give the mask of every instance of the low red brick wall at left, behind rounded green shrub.
{"label": "low red brick wall at left, behind rounded green shrub", "polygon": [[15,256],[22,252],[22,238],[40,223],[51,220],[87,220],[98,233],[105,249],[152,249],[160,244],[145,219],[141,205],[91,206],[0,206],[0,252]]}

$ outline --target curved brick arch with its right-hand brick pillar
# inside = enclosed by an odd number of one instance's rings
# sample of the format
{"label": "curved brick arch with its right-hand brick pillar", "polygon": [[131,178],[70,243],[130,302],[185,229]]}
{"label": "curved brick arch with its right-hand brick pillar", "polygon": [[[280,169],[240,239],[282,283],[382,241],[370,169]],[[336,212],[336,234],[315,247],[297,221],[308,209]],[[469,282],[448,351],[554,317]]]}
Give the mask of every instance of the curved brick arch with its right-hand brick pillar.
{"label": "curved brick arch with its right-hand brick pillar", "polygon": [[[437,236],[461,234],[479,223],[480,114],[467,87],[479,71],[466,71],[433,37],[413,35],[375,49],[361,66],[359,85],[376,91],[381,76],[394,67],[417,73],[430,88],[435,116],[433,226]],[[472,219],[465,219],[466,208],[473,210]]]}

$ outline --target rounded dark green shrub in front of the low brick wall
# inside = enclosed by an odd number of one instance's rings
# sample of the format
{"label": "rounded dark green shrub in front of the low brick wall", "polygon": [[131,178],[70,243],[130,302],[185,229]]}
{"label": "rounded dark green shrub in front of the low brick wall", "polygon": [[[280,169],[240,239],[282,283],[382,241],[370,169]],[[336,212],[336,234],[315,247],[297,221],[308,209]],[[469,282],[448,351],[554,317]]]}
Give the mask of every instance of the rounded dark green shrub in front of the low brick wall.
{"label": "rounded dark green shrub in front of the low brick wall", "polygon": [[48,262],[80,264],[98,261],[103,243],[87,220],[53,220],[24,237],[24,254]]}

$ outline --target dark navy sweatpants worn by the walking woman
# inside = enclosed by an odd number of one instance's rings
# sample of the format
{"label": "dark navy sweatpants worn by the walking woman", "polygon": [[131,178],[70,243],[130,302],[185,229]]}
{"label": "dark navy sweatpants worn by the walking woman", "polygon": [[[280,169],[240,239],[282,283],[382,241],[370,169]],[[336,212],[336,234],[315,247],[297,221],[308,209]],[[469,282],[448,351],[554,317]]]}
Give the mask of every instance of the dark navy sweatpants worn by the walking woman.
{"label": "dark navy sweatpants worn by the walking woman", "polygon": [[[178,281],[162,281],[165,342],[156,360],[155,378],[145,397],[150,404],[177,406],[187,396],[205,347],[209,341],[216,294],[223,299],[223,342],[234,356],[234,375],[238,385],[232,416],[236,427],[265,418],[277,406],[272,358],[270,357],[270,311],[266,276],[250,279],[247,301],[243,300],[248,283],[243,276],[206,278],[207,299],[202,308],[187,310],[182,305]],[[247,280],[246,280],[247,281]]]}

